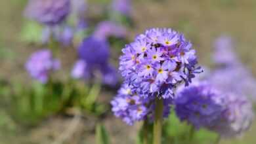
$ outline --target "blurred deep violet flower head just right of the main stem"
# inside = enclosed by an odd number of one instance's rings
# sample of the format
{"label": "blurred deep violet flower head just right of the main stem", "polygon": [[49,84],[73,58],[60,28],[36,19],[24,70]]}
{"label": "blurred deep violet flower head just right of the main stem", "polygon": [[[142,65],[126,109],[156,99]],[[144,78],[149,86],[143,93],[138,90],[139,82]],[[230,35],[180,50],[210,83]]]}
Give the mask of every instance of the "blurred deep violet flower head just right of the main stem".
{"label": "blurred deep violet flower head just right of the main stem", "polygon": [[225,108],[225,95],[207,82],[179,88],[175,99],[177,116],[196,128],[213,126]]}

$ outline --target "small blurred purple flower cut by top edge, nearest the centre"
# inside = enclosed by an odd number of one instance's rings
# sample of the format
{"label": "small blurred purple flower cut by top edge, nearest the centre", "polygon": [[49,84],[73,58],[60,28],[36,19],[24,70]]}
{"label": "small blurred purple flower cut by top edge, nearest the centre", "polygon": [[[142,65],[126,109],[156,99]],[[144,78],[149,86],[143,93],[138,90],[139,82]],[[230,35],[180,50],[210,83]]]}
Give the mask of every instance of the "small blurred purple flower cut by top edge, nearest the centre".
{"label": "small blurred purple flower cut by top edge, nearest the centre", "polygon": [[113,0],[112,10],[129,16],[131,14],[131,0]]}

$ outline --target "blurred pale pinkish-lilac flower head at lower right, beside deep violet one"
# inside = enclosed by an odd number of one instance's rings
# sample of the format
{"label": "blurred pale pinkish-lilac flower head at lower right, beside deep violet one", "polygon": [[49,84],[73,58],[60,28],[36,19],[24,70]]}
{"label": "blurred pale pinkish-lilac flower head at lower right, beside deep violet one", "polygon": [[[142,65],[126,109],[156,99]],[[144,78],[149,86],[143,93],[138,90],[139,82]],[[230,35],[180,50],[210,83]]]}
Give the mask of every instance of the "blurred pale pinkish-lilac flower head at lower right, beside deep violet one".
{"label": "blurred pale pinkish-lilac flower head at lower right, beside deep violet one", "polygon": [[225,97],[226,109],[218,122],[209,130],[218,132],[221,137],[242,135],[251,126],[254,113],[251,103],[244,97],[230,93]]}

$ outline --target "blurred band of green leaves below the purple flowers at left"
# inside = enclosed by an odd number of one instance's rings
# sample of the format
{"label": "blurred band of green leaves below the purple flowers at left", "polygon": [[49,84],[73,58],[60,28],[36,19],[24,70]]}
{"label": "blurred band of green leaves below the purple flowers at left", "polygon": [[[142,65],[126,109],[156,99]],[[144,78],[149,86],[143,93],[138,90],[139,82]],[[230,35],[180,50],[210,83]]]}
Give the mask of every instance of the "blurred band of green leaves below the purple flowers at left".
{"label": "blurred band of green leaves below the purple flowers at left", "polygon": [[33,82],[31,86],[2,83],[0,86],[0,95],[14,120],[27,125],[64,113],[70,107],[77,107],[89,115],[102,115],[107,106],[96,102],[99,94],[98,82],[92,85],[79,81]]}

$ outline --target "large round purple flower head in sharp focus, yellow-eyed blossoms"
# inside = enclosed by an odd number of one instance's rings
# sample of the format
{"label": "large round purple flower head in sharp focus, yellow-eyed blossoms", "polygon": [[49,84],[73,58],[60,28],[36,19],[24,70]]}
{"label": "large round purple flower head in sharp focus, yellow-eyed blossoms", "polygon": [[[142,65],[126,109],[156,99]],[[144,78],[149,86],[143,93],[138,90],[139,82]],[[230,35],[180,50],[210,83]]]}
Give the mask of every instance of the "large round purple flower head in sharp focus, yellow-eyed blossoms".
{"label": "large round purple flower head in sharp focus, yellow-eyed blossoms", "polygon": [[141,96],[173,98],[177,84],[201,72],[192,44],[173,29],[148,29],[122,52],[121,75]]}

